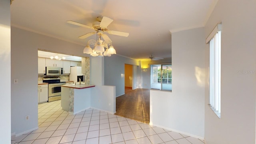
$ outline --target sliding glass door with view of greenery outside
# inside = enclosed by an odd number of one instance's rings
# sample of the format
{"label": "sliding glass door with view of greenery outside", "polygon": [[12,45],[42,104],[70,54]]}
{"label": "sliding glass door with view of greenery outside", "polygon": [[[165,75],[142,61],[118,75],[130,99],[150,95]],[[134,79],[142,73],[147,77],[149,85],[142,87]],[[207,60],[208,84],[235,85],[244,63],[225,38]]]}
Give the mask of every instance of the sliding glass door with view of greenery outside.
{"label": "sliding glass door with view of greenery outside", "polygon": [[172,65],[151,65],[151,88],[172,91]]}

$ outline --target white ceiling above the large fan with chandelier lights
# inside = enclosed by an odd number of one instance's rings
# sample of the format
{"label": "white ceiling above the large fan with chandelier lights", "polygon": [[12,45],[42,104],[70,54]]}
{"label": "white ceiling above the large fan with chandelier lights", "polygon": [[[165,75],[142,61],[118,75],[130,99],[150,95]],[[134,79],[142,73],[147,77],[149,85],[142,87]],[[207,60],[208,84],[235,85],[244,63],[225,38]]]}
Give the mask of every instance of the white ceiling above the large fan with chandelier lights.
{"label": "white ceiling above the large fan with chandelier lights", "polygon": [[[146,59],[152,53],[171,58],[171,32],[204,26],[218,0],[14,0],[11,25],[86,46],[96,34],[79,39],[92,29],[68,24],[73,20],[92,26],[97,16],[114,21],[109,30],[129,32],[110,35],[117,54]],[[82,50],[81,50],[82,53]]]}

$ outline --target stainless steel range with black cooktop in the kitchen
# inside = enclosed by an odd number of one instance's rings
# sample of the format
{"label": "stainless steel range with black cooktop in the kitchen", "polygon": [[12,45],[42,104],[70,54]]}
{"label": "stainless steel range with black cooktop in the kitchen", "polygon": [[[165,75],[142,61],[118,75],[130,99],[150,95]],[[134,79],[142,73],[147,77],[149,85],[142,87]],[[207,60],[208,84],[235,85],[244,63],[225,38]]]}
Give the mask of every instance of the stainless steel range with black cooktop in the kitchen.
{"label": "stainless steel range with black cooktop in the kitchen", "polygon": [[61,99],[61,85],[66,84],[66,82],[60,82],[60,77],[51,76],[44,77],[43,82],[48,83],[48,102]]}

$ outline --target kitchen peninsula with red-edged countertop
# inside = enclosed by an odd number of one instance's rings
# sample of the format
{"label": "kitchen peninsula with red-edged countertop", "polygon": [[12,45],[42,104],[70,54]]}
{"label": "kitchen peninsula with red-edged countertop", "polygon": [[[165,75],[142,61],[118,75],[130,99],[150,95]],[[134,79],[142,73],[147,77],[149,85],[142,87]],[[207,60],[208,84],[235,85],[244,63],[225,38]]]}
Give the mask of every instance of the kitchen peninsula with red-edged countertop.
{"label": "kitchen peninsula with red-edged countertop", "polygon": [[91,88],[89,84],[64,84],[61,86],[61,106],[71,114],[90,108]]}

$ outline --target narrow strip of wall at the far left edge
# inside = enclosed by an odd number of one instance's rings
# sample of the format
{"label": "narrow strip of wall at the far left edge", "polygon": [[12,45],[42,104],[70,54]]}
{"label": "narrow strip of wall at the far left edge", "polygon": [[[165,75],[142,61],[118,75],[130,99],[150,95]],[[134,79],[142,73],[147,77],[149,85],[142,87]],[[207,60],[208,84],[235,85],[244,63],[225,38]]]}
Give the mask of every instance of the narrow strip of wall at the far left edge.
{"label": "narrow strip of wall at the far left edge", "polygon": [[11,143],[11,29],[10,1],[0,1],[0,140]]}

